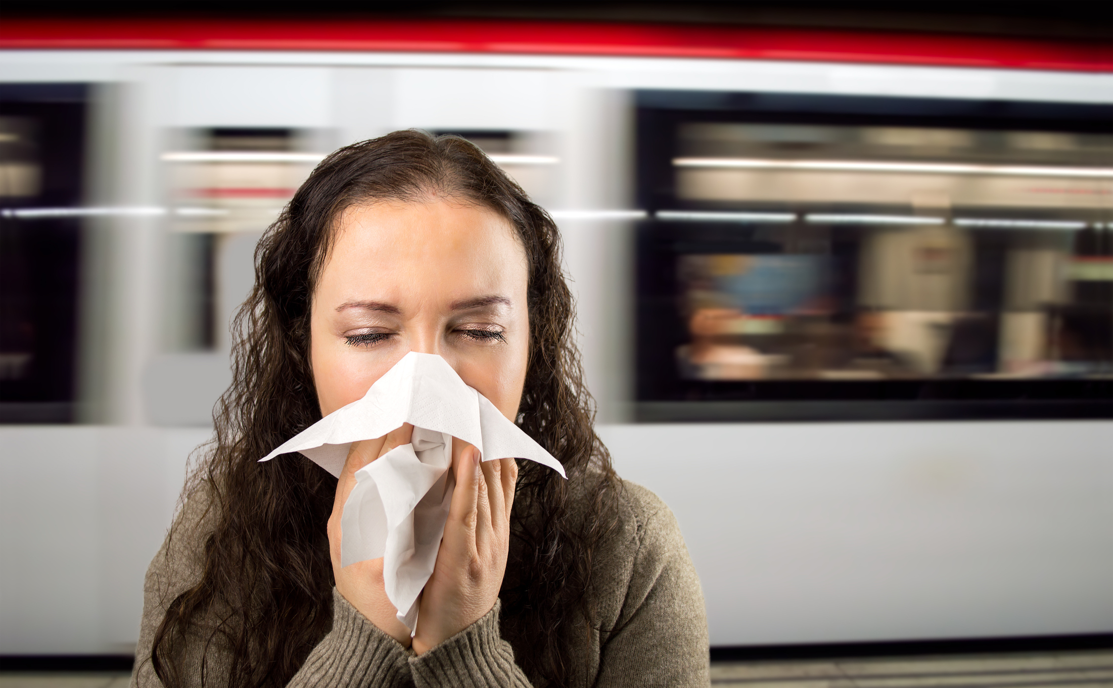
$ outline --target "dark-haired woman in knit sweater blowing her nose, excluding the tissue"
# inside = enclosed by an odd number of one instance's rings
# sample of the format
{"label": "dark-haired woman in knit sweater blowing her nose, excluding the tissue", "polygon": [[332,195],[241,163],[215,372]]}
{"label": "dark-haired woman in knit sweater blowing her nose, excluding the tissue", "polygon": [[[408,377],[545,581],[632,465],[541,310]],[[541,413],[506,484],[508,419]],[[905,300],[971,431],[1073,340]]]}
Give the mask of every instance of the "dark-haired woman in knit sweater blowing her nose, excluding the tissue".
{"label": "dark-haired woman in knit sweater blowing her nose, excluding the tissue", "polygon": [[[216,439],[147,574],[135,686],[708,685],[699,580],[668,508],[592,429],[556,227],[481,151],[400,131],[343,148],[256,251]],[[257,460],[407,351],[442,356],[556,457],[456,487],[412,639],[382,560],[339,566],[339,480]]]}

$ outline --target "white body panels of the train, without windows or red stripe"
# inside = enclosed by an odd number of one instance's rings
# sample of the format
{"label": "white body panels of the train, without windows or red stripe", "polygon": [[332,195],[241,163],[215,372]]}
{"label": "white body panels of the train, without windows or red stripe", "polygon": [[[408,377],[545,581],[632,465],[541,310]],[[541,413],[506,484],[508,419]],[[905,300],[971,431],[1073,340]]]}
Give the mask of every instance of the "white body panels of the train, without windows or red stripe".
{"label": "white body panels of the train, without windows or red stripe", "polygon": [[[82,277],[81,351],[97,361],[81,372],[85,422],[0,426],[0,655],[121,654],[136,642],[144,572],[228,381],[225,328],[208,351],[167,345],[167,266],[174,237],[188,231],[180,222],[194,219],[175,215],[175,189],[217,182],[204,170],[201,181],[183,181],[189,162],[166,153],[214,128],[296,131],[309,152],[412,127],[522,134],[514,154],[541,160],[505,164],[561,226],[600,435],[620,475],[659,493],[679,519],[712,646],[1113,629],[1113,422],[633,422],[628,241],[639,210],[636,90],[1109,103],[1113,77],[769,60],[7,50],[0,82],[91,84],[88,206],[152,209],[89,220],[100,225]],[[220,183],[279,188],[306,169],[294,160]],[[250,286],[252,250],[272,212],[259,207],[244,216],[256,220],[219,230],[218,323]]]}

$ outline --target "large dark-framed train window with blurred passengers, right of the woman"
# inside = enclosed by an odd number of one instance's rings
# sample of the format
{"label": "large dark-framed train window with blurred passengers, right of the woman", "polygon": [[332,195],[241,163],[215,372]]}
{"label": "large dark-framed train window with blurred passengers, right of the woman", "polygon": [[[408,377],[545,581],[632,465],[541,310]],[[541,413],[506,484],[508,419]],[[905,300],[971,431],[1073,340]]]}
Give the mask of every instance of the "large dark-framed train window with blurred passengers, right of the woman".
{"label": "large dark-framed train window with blurred passengers, right of the woman", "polygon": [[1113,111],[638,98],[642,420],[1113,413]]}

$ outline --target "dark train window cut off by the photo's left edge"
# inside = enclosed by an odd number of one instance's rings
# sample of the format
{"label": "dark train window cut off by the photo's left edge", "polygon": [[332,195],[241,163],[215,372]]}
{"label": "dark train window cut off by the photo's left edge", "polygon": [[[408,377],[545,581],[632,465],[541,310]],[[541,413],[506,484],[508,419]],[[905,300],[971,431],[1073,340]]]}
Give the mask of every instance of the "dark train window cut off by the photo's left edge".
{"label": "dark train window cut off by the photo's left edge", "polygon": [[72,422],[86,88],[0,84],[0,422]]}

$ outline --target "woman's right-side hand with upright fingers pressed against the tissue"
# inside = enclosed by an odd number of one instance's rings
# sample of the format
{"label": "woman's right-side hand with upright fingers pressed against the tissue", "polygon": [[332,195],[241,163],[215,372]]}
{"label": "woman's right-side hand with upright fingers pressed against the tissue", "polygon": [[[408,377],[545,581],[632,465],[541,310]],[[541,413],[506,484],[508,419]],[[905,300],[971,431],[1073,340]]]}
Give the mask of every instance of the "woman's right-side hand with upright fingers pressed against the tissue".
{"label": "woman's right-side hand with upright fingers pressed against the tissue", "polygon": [[480,461],[480,452],[453,438],[452,492],[444,539],[417,614],[418,655],[464,630],[494,607],[506,572],[510,509],[514,505],[514,459]]}

